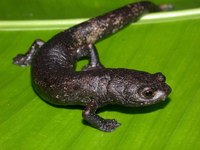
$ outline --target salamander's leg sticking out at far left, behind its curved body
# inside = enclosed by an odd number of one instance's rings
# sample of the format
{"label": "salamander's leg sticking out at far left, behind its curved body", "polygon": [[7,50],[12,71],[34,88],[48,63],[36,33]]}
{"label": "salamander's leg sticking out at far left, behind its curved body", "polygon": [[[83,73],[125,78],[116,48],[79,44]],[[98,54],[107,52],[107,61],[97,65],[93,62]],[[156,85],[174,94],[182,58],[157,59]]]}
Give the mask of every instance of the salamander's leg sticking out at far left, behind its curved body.
{"label": "salamander's leg sticking out at far left, behind its curved body", "polygon": [[44,45],[44,41],[39,39],[35,40],[27,53],[18,54],[16,57],[13,58],[13,63],[19,66],[31,65],[32,57],[34,56],[35,52],[38,51],[40,47],[42,47],[42,45]]}

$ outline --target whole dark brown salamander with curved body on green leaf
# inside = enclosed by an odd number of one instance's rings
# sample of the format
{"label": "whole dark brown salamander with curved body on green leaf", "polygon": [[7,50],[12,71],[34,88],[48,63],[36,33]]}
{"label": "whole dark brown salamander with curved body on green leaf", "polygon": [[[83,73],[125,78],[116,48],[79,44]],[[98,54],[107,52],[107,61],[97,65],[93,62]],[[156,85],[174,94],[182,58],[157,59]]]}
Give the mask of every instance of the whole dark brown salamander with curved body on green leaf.
{"label": "whole dark brown salamander with curved body on green leaf", "polygon": [[[96,114],[98,108],[108,104],[152,105],[164,101],[171,88],[162,73],[105,68],[94,44],[143,14],[169,9],[171,5],[148,1],[129,4],[60,32],[47,42],[35,40],[13,63],[31,66],[32,85],[42,99],[53,105],[84,105],[83,118],[93,127],[111,132],[120,124],[101,118]],[[89,63],[76,71],[76,62],[82,57]]]}

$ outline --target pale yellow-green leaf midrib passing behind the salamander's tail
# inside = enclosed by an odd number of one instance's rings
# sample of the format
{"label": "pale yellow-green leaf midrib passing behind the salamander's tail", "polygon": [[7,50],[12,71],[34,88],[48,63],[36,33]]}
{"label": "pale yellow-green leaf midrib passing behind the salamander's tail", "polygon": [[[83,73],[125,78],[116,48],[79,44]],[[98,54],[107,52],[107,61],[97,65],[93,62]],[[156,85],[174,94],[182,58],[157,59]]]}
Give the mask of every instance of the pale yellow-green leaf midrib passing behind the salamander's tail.
{"label": "pale yellow-green leaf midrib passing behind the salamander's tail", "polygon": [[[137,25],[156,22],[193,20],[200,18],[200,8],[170,12],[152,13],[143,16]],[[10,20],[0,21],[0,31],[27,31],[27,30],[57,30],[65,29],[74,24],[86,21],[88,18],[62,20]]]}

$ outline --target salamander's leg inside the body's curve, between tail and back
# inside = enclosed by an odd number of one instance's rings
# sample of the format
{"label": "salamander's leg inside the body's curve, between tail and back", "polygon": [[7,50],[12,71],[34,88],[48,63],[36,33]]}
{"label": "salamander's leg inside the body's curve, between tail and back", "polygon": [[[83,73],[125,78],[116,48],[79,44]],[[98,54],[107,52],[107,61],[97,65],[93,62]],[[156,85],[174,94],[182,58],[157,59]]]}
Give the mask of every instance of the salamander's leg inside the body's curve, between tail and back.
{"label": "salamander's leg inside the body's curve, between tail and back", "polygon": [[104,68],[104,66],[99,61],[97,49],[92,44],[88,45],[88,57],[89,64],[83,67],[83,71]]}

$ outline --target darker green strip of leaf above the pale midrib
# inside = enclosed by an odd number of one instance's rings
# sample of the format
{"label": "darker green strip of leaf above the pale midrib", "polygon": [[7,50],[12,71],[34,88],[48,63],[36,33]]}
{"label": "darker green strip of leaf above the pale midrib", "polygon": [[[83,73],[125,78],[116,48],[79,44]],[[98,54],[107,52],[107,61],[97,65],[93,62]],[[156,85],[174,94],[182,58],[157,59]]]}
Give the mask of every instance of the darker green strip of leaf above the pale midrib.
{"label": "darker green strip of leaf above the pale midrib", "polygon": [[[139,1],[139,0],[138,0]],[[1,0],[1,20],[91,18],[136,0]],[[153,0],[175,10],[200,7],[199,0]]]}

